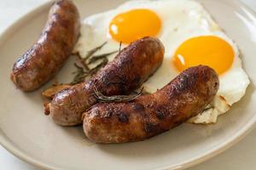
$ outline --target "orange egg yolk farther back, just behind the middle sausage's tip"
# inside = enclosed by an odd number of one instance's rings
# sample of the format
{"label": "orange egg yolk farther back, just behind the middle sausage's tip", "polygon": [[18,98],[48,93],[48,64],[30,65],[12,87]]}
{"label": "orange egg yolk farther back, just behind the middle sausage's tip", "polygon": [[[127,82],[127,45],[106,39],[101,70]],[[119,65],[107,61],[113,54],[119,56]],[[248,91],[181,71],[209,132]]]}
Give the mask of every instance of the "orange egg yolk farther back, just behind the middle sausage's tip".
{"label": "orange egg yolk farther back, just behind the middle sausage's tip", "polygon": [[118,42],[130,43],[142,37],[155,37],[160,31],[161,20],[148,9],[133,9],[118,14],[109,25],[109,34]]}

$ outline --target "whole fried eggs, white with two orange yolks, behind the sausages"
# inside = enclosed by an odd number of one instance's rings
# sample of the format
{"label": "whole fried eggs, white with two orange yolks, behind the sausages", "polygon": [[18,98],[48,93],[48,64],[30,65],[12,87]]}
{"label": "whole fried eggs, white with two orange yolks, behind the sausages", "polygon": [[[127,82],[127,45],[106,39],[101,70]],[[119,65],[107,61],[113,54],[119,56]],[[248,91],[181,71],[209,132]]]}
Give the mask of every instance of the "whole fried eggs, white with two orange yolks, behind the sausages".
{"label": "whole fried eggs, white with two orange yolks, behind the sausages", "polygon": [[[74,52],[85,56],[92,48],[107,42],[97,54],[116,51],[145,36],[158,37],[166,53],[163,64],[143,84],[154,93],[181,71],[195,65],[208,65],[219,75],[218,94],[212,103],[189,122],[217,122],[245,94],[249,84],[242,69],[240,53],[210,14],[193,0],[139,0],[94,14],[83,20],[81,36]],[[113,59],[110,56],[110,60]]]}

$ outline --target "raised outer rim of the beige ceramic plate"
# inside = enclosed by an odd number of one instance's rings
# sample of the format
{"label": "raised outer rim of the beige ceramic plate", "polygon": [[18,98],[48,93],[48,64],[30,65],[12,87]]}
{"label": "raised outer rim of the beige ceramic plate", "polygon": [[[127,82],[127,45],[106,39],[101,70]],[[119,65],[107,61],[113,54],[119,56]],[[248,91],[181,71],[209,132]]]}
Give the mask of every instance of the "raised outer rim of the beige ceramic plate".
{"label": "raised outer rim of the beige ceramic plate", "polygon": [[[52,3],[53,1],[49,0],[48,2],[45,2],[36,8],[32,8],[26,14],[22,14],[10,26],[5,28],[0,33],[0,47],[3,44],[3,42],[5,42],[8,39],[8,37],[10,37],[13,34],[13,32],[15,32],[17,27],[22,26],[24,22],[26,22],[27,20],[30,20],[35,15],[43,12],[44,10],[47,10]],[[256,13],[253,11],[253,9],[249,8],[245,3],[242,3],[241,0],[236,0],[233,3],[238,3],[242,8],[246,8],[247,11],[253,14],[253,16],[255,16],[256,18]],[[247,122],[247,124],[244,127],[242,127],[239,131],[237,131],[236,134],[234,134],[230,139],[225,140],[222,144],[218,144],[218,146],[212,148],[212,150],[207,150],[207,152],[205,152],[204,154],[191,158],[187,161],[184,161],[179,165],[172,165],[172,167],[171,166],[158,167],[157,169],[180,170],[188,167],[193,167],[197,164],[200,164],[203,161],[207,161],[212,157],[217,156],[218,154],[224,152],[224,150],[228,150],[230,149],[230,147],[237,144],[248,133],[250,133],[254,127],[256,127],[256,116],[250,119]],[[53,170],[61,169],[60,167],[50,166],[49,164],[44,163],[43,161],[38,161],[34,159],[32,156],[27,156],[26,153],[24,153],[24,151],[15,147],[15,144],[12,144],[11,142],[9,142],[9,140],[6,139],[6,137],[4,137],[3,135],[0,135],[0,144],[3,146],[4,149],[8,150],[9,153],[20,158],[20,160],[22,161],[26,161],[32,164],[33,166],[40,167],[40,168],[53,169]]]}

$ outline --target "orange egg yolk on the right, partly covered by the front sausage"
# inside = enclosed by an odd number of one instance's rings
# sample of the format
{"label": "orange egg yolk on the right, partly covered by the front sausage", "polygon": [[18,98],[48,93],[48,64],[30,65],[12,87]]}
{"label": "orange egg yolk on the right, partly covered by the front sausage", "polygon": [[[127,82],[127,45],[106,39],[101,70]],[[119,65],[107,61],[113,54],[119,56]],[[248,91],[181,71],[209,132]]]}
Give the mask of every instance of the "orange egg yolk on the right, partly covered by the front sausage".
{"label": "orange egg yolk on the right, partly covered by the front sausage", "polygon": [[172,63],[177,71],[195,65],[208,65],[220,75],[230,69],[234,55],[230,43],[219,37],[193,37],[177,48]]}

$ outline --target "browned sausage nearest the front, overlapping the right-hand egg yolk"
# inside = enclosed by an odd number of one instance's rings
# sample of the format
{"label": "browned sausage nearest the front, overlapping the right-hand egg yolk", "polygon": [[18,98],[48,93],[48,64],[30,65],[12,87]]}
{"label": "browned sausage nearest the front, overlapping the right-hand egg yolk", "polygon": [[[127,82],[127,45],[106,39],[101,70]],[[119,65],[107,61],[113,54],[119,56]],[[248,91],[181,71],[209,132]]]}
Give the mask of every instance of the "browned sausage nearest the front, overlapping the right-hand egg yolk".
{"label": "browned sausage nearest the front, overlapping the right-hand egg yolk", "polygon": [[207,66],[183,71],[154,94],[129,103],[99,103],[84,113],[84,133],[96,143],[148,139],[195,116],[218,91],[218,76]]}

